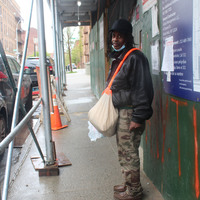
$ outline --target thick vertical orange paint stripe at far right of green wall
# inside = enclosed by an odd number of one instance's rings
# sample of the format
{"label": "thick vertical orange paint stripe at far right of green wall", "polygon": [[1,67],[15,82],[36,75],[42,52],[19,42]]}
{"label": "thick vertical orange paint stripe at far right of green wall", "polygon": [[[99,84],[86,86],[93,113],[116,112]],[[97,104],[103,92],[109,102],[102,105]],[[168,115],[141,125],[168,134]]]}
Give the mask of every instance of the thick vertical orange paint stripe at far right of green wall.
{"label": "thick vertical orange paint stripe at far right of green wall", "polygon": [[199,198],[199,161],[198,161],[198,141],[197,141],[197,111],[193,107],[193,126],[194,126],[194,165],[195,165],[195,193]]}

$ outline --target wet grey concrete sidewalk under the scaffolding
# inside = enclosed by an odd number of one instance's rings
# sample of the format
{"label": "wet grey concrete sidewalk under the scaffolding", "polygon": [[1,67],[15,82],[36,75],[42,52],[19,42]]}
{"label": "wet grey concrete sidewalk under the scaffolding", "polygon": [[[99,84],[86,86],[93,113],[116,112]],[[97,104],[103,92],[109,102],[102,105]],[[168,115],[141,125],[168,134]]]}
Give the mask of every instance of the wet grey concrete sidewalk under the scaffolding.
{"label": "wet grey concrete sidewalk under the scaffolding", "polygon": [[[88,110],[97,99],[91,92],[90,77],[85,70],[67,74],[64,97],[71,122],[69,126],[53,131],[56,152],[62,152],[71,166],[60,167],[59,176],[39,177],[30,157],[38,156],[34,143],[28,143],[26,157],[21,161],[17,175],[11,181],[9,200],[112,200],[113,186],[122,183],[115,137],[91,142],[88,137]],[[44,127],[37,133],[43,152]],[[142,151],[142,149],[141,149]],[[163,200],[151,181],[142,172],[144,200]]]}

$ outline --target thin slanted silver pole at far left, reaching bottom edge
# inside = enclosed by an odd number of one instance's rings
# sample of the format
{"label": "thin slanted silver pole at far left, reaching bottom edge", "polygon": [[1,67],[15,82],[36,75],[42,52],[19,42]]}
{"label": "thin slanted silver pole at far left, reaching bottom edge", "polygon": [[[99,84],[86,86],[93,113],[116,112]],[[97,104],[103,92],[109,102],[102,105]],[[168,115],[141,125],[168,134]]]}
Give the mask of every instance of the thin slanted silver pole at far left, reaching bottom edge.
{"label": "thin slanted silver pole at far left, reaching bottom edge", "polygon": [[[31,21],[32,7],[33,7],[33,0],[32,0],[31,10],[30,10],[29,25],[30,25],[30,21]],[[24,69],[21,68],[20,74],[19,74],[19,80],[18,80],[18,91],[17,91],[17,94],[16,94],[14,111],[13,111],[11,131],[14,129],[14,127],[16,126],[16,124],[18,122],[18,113],[19,113],[19,103],[20,103],[23,72],[24,72]],[[9,148],[8,148],[8,156],[7,156],[7,162],[6,162],[6,170],[5,170],[2,200],[6,200],[7,195],[8,195],[8,185],[9,185],[9,179],[10,179],[13,146],[14,146],[14,141],[12,141],[10,143]]]}

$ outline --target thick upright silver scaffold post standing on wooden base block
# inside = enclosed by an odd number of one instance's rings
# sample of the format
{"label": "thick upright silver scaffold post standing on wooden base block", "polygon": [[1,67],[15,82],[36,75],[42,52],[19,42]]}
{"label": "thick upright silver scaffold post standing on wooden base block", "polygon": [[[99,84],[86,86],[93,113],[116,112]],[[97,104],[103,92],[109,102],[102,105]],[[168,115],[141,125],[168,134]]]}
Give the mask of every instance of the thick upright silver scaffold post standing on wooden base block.
{"label": "thick upright silver scaffold post standing on wooden base block", "polygon": [[47,82],[47,67],[46,67],[46,44],[44,30],[44,9],[43,1],[37,0],[37,22],[38,22],[38,37],[39,37],[39,55],[40,55],[40,76],[42,87],[42,105],[44,114],[45,128],[45,145],[46,145],[46,165],[54,164],[53,142],[51,134],[50,122],[50,107],[49,107],[49,90]]}

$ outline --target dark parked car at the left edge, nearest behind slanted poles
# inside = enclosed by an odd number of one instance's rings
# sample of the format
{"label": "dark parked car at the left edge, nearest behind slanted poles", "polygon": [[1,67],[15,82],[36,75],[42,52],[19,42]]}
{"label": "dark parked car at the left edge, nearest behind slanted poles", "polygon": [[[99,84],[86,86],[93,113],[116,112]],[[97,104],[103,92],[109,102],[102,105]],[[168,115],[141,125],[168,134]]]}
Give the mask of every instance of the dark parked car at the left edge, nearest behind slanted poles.
{"label": "dark parked car at the left edge, nearest behind slanted poles", "polygon": [[[12,56],[7,56],[7,60],[14,81],[17,85],[21,66]],[[32,82],[30,76],[26,73],[24,73],[22,81],[21,100],[28,112],[32,108]],[[0,141],[10,131],[14,102],[15,93],[11,86],[2,58],[0,57]]]}

